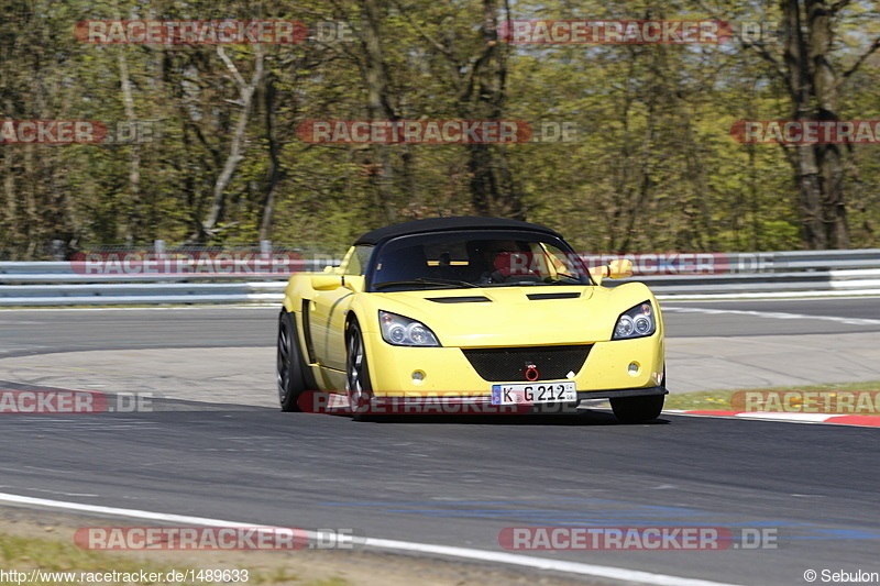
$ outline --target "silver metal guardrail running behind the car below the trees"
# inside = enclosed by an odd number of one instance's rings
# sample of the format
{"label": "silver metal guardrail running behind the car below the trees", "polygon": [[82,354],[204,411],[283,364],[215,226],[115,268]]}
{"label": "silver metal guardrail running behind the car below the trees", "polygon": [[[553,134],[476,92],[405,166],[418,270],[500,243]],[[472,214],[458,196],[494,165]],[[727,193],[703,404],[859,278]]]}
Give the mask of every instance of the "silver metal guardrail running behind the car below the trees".
{"label": "silver metal guardrail running behind the car below the trees", "polygon": [[[640,280],[666,299],[880,295],[880,248],[701,254],[703,265],[693,254],[635,255],[642,274],[604,285]],[[618,256],[626,255],[591,258]],[[339,265],[324,258],[301,266],[322,270],[328,262]],[[704,274],[695,272],[701,266]],[[650,274],[658,272],[667,274]],[[278,302],[286,280],[272,273],[85,274],[67,262],[0,262],[0,307]]]}

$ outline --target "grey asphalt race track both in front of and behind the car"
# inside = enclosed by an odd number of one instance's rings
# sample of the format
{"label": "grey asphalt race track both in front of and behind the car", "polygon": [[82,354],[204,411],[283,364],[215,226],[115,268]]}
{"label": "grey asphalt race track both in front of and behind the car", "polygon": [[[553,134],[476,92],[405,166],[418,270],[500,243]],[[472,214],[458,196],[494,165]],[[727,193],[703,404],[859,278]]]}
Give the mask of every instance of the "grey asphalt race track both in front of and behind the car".
{"label": "grey asphalt race track both in front of and behind the car", "polygon": [[[662,307],[671,339],[880,341],[880,299]],[[271,346],[276,313],[2,311],[0,357]],[[6,375],[0,366],[0,388],[22,388]],[[490,552],[505,551],[498,534],[509,527],[746,528],[769,531],[777,548],[512,553],[744,585],[804,584],[806,570],[880,571],[877,429],[669,414],[624,425],[602,411],[358,423],[248,400],[274,396],[272,377],[243,389],[241,402],[6,414],[0,493]],[[53,378],[44,388],[75,387]]]}

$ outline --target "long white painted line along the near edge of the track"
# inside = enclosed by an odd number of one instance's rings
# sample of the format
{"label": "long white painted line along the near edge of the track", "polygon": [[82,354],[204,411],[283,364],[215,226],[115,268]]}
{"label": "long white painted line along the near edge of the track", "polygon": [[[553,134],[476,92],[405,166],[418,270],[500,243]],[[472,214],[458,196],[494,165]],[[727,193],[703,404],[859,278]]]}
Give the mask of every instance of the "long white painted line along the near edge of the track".
{"label": "long white painted line along the near edge of the track", "polygon": [[[147,519],[152,521],[164,521],[172,523],[186,523],[201,527],[234,527],[267,529],[272,526],[254,523],[242,523],[238,521],[223,521],[206,517],[190,517],[188,515],[173,515],[165,512],[143,511],[139,509],[118,509],[116,507],[102,507],[98,505],[81,505],[79,502],[67,502],[64,500],[50,500],[45,498],[23,497],[0,493],[0,502],[11,502],[16,505],[28,505],[32,507],[50,507],[54,509],[65,509],[79,512],[92,512],[109,515],[114,517],[125,517],[130,519]],[[306,531],[309,538],[315,537],[314,531]],[[532,567],[536,570],[549,570],[565,572],[569,574],[581,574],[584,576],[596,576],[603,578],[618,579],[624,582],[636,582],[639,584],[653,584],[657,586],[735,586],[729,583],[712,582],[705,579],[685,578],[681,576],[669,576],[666,574],[654,574],[641,572],[639,570],[626,570],[623,567],[602,566],[593,564],[582,564],[579,562],[563,562],[560,560],[548,560],[546,557],[532,557],[530,555],[519,555],[515,553],[491,552],[485,550],[472,550],[470,548],[454,548],[450,545],[432,545],[430,543],[416,543],[411,541],[395,541],[387,539],[367,538],[366,545],[382,550],[397,550],[406,552],[428,553],[435,555],[447,555],[452,557],[464,557],[481,562],[494,562],[499,564],[513,564]]]}

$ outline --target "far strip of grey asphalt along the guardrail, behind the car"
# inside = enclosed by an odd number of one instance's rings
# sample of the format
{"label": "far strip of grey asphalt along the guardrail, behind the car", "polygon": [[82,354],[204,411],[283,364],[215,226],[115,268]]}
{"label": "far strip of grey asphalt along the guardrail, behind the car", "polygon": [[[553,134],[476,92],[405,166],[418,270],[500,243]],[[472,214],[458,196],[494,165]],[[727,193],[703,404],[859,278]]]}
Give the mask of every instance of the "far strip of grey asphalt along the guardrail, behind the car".
{"label": "far strip of grey asphalt along the guardrail, behind the car", "polygon": [[[663,301],[667,335],[767,335],[880,332],[880,300]],[[785,312],[834,317],[840,321],[762,319],[738,313],[678,313],[671,308],[722,311]],[[170,310],[3,310],[0,312],[0,356],[150,347],[268,346],[275,343],[274,308]],[[744,319],[745,318],[745,319]],[[877,320],[873,325],[847,319]]]}

